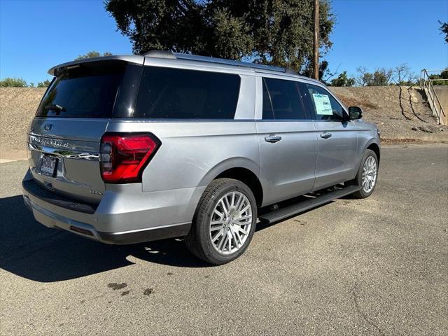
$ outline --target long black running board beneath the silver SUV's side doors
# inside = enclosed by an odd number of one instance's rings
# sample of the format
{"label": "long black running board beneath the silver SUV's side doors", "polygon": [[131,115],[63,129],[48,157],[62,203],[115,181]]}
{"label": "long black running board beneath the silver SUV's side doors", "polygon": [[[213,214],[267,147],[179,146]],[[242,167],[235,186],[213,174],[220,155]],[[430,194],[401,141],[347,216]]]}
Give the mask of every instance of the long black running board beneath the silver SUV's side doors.
{"label": "long black running board beneath the silver SUV's side doors", "polygon": [[337,198],[350,195],[351,193],[355,193],[358,190],[360,190],[360,186],[346,186],[344,188],[330,191],[329,193],[319,195],[309,200],[304,200],[288,207],[274,210],[268,212],[267,214],[262,214],[258,218],[262,223],[274,223],[282,221],[285,218],[300,214],[301,212],[313,209],[315,207],[318,207],[319,205],[331,202],[332,200],[335,200]]}

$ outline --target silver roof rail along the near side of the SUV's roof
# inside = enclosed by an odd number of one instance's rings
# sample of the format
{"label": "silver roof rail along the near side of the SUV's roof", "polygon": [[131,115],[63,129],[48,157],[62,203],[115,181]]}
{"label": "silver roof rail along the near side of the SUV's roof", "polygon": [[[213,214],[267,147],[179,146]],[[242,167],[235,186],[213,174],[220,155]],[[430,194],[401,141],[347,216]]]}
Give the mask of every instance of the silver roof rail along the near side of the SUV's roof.
{"label": "silver roof rail along the near side of the SUV's roof", "polygon": [[297,75],[297,72],[295,72],[293,69],[285,69],[285,68],[281,68],[279,66],[269,66],[269,65],[255,64],[255,63],[249,63],[249,62],[233,61],[231,59],[224,59],[224,58],[217,58],[217,57],[182,54],[179,52],[171,52],[169,50],[151,50],[151,51],[145,52],[143,54],[143,56],[157,57],[157,58],[168,58],[168,59],[186,59],[189,61],[225,64],[225,65],[232,65],[232,66],[245,66],[247,68],[252,68],[252,69],[277,71],[277,72],[283,72],[283,73],[293,73],[293,74]]}

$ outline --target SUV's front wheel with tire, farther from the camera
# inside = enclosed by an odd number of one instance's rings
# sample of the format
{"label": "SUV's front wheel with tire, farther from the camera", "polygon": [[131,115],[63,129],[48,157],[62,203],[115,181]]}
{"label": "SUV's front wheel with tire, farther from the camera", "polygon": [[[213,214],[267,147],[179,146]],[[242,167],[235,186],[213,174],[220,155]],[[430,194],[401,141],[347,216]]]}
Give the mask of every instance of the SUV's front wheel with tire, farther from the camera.
{"label": "SUV's front wheel with tire, farther from the camera", "polygon": [[378,177],[378,158],[377,154],[367,149],[361,160],[358,174],[352,183],[356,186],[360,186],[360,190],[353,193],[355,198],[366,198],[372,195],[375,186],[377,185]]}

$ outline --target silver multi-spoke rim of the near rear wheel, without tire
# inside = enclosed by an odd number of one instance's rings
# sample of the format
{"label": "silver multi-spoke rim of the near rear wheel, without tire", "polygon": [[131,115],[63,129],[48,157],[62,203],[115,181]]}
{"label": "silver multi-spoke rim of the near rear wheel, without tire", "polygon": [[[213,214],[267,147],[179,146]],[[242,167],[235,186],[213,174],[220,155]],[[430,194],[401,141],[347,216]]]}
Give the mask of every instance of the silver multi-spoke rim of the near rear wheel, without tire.
{"label": "silver multi-spoke rim of the near rear wheel, without tire", "polygon": [[238,191],[218,200],[210,219],[211,244],[218,253],[234,253],[244,245],[251,232],[252,207],[246,195]]}

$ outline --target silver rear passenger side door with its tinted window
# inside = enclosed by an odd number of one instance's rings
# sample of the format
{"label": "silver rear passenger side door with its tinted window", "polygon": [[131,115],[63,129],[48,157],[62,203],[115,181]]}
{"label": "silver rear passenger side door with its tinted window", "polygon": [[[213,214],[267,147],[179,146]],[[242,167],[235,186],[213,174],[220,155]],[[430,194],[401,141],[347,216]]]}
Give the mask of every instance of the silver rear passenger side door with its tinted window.
{"label": "silver rear passenger side door with its tinted window", "polygon": [[[258,77],[262,101],[256,120],[263,204],[309,193],[314,185],[317,139],[295,80]],[[261,97],[259,97],[261,98]]]}

